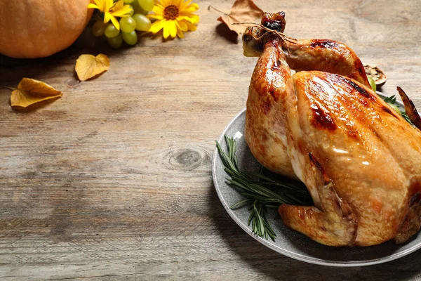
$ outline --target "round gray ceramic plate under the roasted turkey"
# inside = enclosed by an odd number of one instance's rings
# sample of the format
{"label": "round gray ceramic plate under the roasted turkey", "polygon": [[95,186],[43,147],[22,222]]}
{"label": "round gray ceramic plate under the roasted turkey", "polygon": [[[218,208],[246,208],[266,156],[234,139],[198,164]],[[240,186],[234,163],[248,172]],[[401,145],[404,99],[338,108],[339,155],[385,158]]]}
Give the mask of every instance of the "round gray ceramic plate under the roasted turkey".
{"label": "round gray ceramic plate under the roasted turkey", "polygon": [[[380,93],[379,93],[380,94]],[[383,96],[380,94],[380,96]],[[224,135],[234,137],[237,142],[236,155],[239,159],[241,170],[258,171],[257,160],[248,149],[247,143],[243,138],[244,121],[246,110],[243,110],[232,119],[227,128],[222,132],[219,143],[223,150],[227,151]],[[316,263],[324,266],[368,266],[376,263],[385,263],[416,251],[421,248],[421,234],[414,235],[406,244],[396,245],[393,242],[371,247],[328,247],[310,240],[305,235],[294,230],[286,228],[283,225],[279,214],[275,209],[267,211],[267,220],[276,233],[276,240],[265,240],[254,235],[251,228],[247,226],[248,211],[246,207],[240,209],[229,209],[229,206],[241,200],[241,195],[232,187],[225,183],[224,166],[215,150],[213,155],[213,183],[215,184],[218,196],[227,210],[229,216],[243,228],[246,233],[251,235],[265,246],[277,251],[285,256],[308,263]]]}

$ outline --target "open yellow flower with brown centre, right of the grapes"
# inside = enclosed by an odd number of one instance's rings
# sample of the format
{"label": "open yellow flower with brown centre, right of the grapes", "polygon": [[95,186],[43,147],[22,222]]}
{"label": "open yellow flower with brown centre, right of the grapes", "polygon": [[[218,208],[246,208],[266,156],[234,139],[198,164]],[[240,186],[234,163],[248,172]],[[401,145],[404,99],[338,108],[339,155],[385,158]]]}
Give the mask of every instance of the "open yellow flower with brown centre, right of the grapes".
{"label": "open yellow flower with brown centre, right of the grapes", "polygon": [[156,34],[163,30],[163,38],[184,37],[183,32],[196,30],[196,23],[199,22],[199,15],[194,12],[199,10],[196,3],[190,4],[191,0],[155,0],[152,10],[154,14],[147,15],[148,18],[156,20],[152,23],[149,32]]}

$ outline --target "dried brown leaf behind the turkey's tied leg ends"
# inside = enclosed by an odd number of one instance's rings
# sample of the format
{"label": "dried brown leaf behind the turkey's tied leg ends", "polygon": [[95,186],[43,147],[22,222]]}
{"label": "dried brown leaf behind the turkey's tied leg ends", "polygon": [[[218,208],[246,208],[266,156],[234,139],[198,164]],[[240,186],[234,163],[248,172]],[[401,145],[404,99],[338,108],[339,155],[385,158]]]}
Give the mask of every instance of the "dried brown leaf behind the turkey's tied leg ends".
{"label": "dried brown leaf behind the turkey's tied leg ends", "polygon": [[236,34],[240,34],[246,31],[247,27],[245,25],[233,25],[233,23],[253,22],[256,18],[262,18],[262,15],[262,9],[256,6],[252,0],[236,0],[229,14],[220,16],[218,20],[224,22]]}

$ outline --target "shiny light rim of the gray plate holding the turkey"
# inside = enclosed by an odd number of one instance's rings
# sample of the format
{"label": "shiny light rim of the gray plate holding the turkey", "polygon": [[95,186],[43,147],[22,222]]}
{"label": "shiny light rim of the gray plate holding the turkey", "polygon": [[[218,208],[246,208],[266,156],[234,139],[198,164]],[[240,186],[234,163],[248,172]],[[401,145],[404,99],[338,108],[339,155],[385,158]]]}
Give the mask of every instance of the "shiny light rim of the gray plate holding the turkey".
{"label": "shiny light rim of the gray plate holding the turkey", "polygon": [[[386,95],[384,93],[381,93],[381,92],[378,92],[378,91],[376,91],[376,93],[380,97],[386,97]],[[403,107],[403,103],[401,103],[400,100],[396,100],[396,104],[399,107]],[[234,118],[232,118],[231,121],[227,124],[227,126],[225,126],[225,129],[222,131],[222,133],[220,134],[220,137],[218,138],[218,143],[222,143],[223,141],[225,141],[225,134],[230,129],[230,127],[232,126],[232,124],[234,124],[234,122],[236,122],[236,120],[239,119],[239,117],[241,117],[241,115],[246,114],[246,109],[247,108],[244,107],[243,110],[241,110],[239,113],[237,113],[236,116]],[[394,261],[396,259],[400,259],[403,256],[407,256],[408,254],[411,254],[414,251],[417,251],[418,249],[421,248],[421,243],[419,243],[419,244],[415,244],[413,247],[410,247],[409,249],[406,249],[405,251],[399,252],[398,254],[391,254],[389,256],[385,256],[385,257],[381,257],[381,258],[377,258],[377,259],[369,259],[369,260],[366,260],[366,261],[333,261],[333,260],[325,260],[325,259],[319,259],[319,258],[312,257],[312,256],[304,256],[302,254],[297,254],[297,253],[294,253],[293,251],[289,251],[289,250],[283,249],[283,248],[277,246],[276,244],[274,244],[272,242],[269,242],[269,240],[265,240],[262,237],[259,237],[258,235],[253,234],[253,232],[251,231],[251,229],[249,228],[249,226],[247,226],[247,224],[244,221],[241,221],[234,214],[234,211],[232,211],[232,209],[229,209],[229,204],[225,201],[225,198],[222,196],[222,192],[220,190],[220,185],[218,184],[218,178],[216,176],[216,164],[215,164],[215,162],[219,158],[220,157],[219,157],[218,149],[215,148],[215,151],[213,152],[213,159],[212,159],[212,178],[213,178],[213,185],[215,187],[215,190],[216,190],[216,192],[218,194],[218,197],[220,199],[220,202],[222,203],[222,206],[224,207],[225,211],[227,211],[227,213],[229,214],[229,216],[246,233],[248,233],[248,235],[250,235],[251,237],[253,237],[258,242],[264,244],[266,247],[268,247],[269,249],[272,249],[272,250],[276,251],[279,254],[283,254],[284,256],[288,256],[291,259],[296,259],[298,261],[304,261],[306,263],[317,264],[319,266],[333,266],[333,267],[342,267],[342,268],[343,267],[346,267],[346,268],[350,268],[350,267],[356,267],[356,266],[372,266],[372,265],[375,265],[375,264],[386,263],[388,261]],[[328,247],[328,246],[326,246],[326,247]]]}

